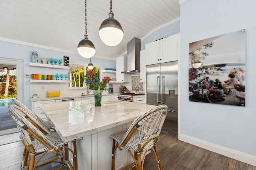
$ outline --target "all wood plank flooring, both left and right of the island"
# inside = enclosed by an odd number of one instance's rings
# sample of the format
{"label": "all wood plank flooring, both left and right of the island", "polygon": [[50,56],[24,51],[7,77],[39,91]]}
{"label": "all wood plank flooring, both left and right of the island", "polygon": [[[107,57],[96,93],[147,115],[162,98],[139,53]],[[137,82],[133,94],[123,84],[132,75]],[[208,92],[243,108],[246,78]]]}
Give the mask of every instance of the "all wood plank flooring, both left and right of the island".
{"label": "all wood plank flooring, both left and right of the island", "polygon": [[[22,142],[1,145],[0,170],[19,170],[23,149]],[[165,133],[161,133],[158,139],[158,151],[163,170],[256,170],[255,166],[182,142]],[[54,170],[55,165],[49,164],[38,169]],[[157,170],[153,152],[146,156],[144,170]]]}

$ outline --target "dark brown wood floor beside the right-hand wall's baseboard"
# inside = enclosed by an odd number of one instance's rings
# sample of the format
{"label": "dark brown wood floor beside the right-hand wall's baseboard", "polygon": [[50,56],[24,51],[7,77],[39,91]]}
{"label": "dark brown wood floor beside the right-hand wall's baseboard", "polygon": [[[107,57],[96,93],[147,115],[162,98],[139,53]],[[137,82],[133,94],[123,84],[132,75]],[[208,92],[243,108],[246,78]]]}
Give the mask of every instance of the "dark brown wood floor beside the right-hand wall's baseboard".
{"label": "dark brown wood floor beside the right-hand wall's baseboard", "polygon": [[[256,170],[255,166],[182,142],[161,133],[158,152],[163,170]],[[154,153],[146,156],[144,170],[157,170]]]}

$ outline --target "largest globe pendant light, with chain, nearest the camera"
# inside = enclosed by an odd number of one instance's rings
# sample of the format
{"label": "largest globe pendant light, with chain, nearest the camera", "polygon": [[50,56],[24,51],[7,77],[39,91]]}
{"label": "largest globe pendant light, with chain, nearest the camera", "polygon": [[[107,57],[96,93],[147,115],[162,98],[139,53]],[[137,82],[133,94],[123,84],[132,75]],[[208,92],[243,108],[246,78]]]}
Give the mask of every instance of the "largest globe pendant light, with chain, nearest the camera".
{"label": "largest globe pendant light, with chain, nearest the camera", "polygon": [[124,30],[121,24],[114,19],[114,14],[112,13],[112,0],[110,0],[110,13],[108,13],[108,17],[109,18],[104,20],[100,25],[100,40],[108,46],[116,46],[122,41]]}

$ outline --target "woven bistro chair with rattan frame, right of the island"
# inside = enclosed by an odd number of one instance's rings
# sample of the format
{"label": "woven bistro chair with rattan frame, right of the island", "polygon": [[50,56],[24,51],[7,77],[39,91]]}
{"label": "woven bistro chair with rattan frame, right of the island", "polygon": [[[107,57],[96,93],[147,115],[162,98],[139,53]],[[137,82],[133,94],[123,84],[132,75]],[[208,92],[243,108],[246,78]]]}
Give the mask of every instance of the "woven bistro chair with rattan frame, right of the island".
{"label": "woven bistro chair with rattan frame, right of the island", "polygon": [[[164,120],[166,119],[166,115],[166,105],[154,107],[137,117],[127,131],[110,136],[110,138],[113,139],[112,170],[115,169],[117,148],[119,150],[122,150],[123,148],[128,150],[134,160],[134,162],[128,165],[126,169],[136,166],[137,170],[142,170],[146,152],[149,150],[152,150],[155,153],[158,169],[162,169],[156,143],[162,130]],[[134,151],[134,154],[132,154],[131,151]],[[143,158],[141,158],[142,155]]]}

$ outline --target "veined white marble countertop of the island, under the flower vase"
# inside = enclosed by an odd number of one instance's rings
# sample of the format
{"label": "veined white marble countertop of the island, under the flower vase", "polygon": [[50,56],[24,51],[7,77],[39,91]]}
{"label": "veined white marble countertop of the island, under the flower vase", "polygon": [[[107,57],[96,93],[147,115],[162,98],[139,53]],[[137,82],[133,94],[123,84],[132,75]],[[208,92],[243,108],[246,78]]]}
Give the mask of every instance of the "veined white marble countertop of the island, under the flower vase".
{"label": "veined white marble countertop of the island, under the flower vase", "polygon": [[124,123],[156,106],[143,103],[102,99],[95,107],[94,100],[60,102],[40,106],[64,141],[72,140]]}

